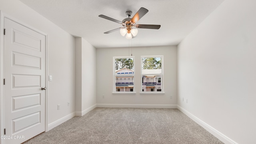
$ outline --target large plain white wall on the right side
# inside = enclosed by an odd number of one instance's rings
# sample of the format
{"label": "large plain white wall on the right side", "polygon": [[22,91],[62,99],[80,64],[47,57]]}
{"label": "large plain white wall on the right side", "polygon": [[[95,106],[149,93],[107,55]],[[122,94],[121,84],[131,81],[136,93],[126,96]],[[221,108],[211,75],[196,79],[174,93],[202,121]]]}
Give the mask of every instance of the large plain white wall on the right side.
{"label": "large plain white wall on the right side", "polygon": [[256,143],[255,6],[225,0],[178,45],[178,105],[239,144]]}

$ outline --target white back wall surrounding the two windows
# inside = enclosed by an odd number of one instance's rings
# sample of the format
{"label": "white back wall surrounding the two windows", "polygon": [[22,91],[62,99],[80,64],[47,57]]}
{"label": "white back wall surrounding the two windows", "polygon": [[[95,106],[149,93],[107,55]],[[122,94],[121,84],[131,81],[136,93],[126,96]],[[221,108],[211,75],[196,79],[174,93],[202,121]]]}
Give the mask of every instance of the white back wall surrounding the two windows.
{"label": "white back wall surrounding the two windows", "polygon": [[[127,107],[142,105],[176,105],[177,104],[177,47],[137,47],[130,48],[135,56],[135,91],[136,94],[112,94],[113,92],[113,56],[129,56],[129,48],[96,49],[97,62],[97,106],[107,104],[128,104]],[[164,56],[164,92],[165,94],[140,94],[140,56]],[[104,95],[104,98],[102,98]],[[170,99],[172,95],[172,99]],[[114,106],[111,105],[111,106]],[[154,106],[153,106],[154,107]]]}

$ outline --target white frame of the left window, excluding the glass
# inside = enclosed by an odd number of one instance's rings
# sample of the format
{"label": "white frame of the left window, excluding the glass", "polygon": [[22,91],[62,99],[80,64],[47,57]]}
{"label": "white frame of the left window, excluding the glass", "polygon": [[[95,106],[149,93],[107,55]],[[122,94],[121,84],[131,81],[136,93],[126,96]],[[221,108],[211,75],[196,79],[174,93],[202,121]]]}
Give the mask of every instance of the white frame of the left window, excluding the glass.
{"label": "white frame of the left window, excluding the glass", "polygon": [[[115,60],[118,59],[118,58],[133,58],[133,71],[134,71],[134,74],[118,74],[118,76],[133,76],[133,91],[130,92],[130,91],[127,91],[127,92],[117,92],[116,91],[116,86],[115,86],[115,78],[116,78],[116,71],[115,71],[115,67],[116,67],[116,64],[115,64]],[[113,57],[113,92],[112,94],[136,94],[136,91],[135,91],[135,56],[114,56]]]}

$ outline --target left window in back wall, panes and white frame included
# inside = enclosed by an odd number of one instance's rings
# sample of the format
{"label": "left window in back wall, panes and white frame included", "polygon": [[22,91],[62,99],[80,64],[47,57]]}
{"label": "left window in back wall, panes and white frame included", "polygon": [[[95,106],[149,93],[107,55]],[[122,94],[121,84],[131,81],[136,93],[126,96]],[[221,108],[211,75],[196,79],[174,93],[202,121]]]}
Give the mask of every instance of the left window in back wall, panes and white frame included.
{"label": "left window in back wall, panes and white frame included", "polygon": [[113,57],[115,93],[134,92],[134,57]]}

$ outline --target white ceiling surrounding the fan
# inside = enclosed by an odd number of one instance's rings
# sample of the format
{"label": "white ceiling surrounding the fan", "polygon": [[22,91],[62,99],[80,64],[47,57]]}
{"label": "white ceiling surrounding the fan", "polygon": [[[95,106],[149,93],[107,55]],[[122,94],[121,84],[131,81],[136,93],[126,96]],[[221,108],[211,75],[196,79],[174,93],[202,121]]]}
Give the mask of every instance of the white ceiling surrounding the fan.
{"label": "white ceiling surrounding the fan", "polygon": [[[224,0],[20,0],[73,36],[83,37],[96,48],[177,45]],[[149,12],[137,24],[159,24],[159,30],[138,29],[132,40],[119,31],[122,21],[144,7]]]}

